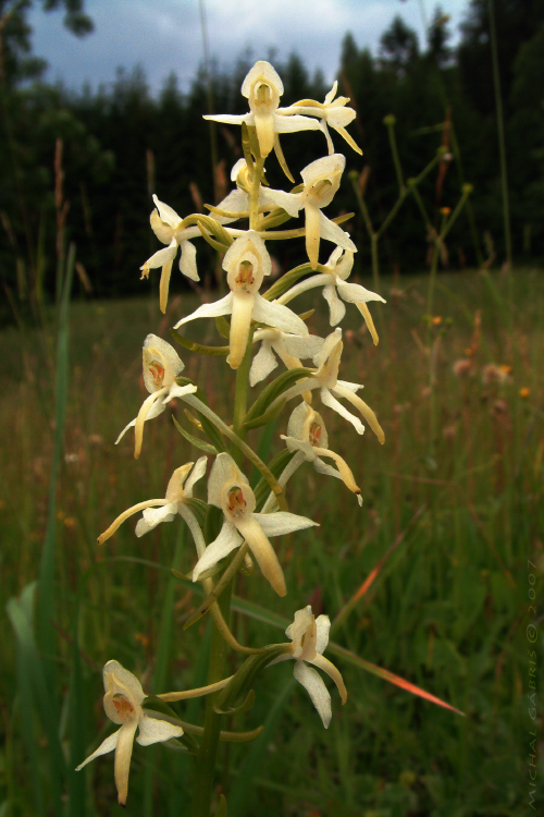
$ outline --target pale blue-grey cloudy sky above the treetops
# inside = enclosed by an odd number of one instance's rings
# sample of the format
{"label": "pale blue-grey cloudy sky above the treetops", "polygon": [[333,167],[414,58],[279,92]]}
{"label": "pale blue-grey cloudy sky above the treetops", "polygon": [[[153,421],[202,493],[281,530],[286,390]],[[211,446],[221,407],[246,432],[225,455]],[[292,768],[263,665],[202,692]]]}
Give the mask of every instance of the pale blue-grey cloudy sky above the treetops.
{"label": "pale blue-grey cloudy sky above the treetops", "polygon": [[[396,14],[424,44],[424,20],[434,0],[203,0],[209,53],[227,69],[246,49],[256,60],[271,48],[280,59],[297,51],[310,71],[320,68],[332,84],[342,40],[351,32],[359,48],[378,52],[380,37]],[[181,90],[203,58],[199,0],[86,0],[95,32],[79,39],[62,25],[62,12],[29,15],[33,49],[49,69],[46,78],[79,89],[114,81],[118,66],[140,64],[152,93],[174,72]],[[450,15],[453,42],[458,38],[468,0],[442,0]]]}

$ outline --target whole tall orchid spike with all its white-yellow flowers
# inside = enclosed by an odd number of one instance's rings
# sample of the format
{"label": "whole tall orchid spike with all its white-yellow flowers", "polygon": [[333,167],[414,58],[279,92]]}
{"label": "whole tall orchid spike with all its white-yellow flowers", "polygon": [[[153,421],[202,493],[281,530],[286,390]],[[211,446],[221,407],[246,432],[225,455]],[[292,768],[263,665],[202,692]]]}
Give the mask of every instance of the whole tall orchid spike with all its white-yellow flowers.
{"label": "whole tall orchid spike with all its white-yellow flowers", "polygon": [[[320,475],[341,479],[362,504],[361,490],[349,465],[329,448],[324,420],[312,403],[313,391],[319,390],[323,406],[347,419],[359,435],[363,434],[366,422],[380,442],[384,441],[374,412],[357,393],[362,386],[338,379],[343,340],[342,329],[337,325],[346,313],[345,303],[356,304],[373,342],[378,343],[368,303],[383,302],[383,298],[347,281],[357,247],[341,228],[343,219],[330,219],[322,211],[332,203],[346,163],[344,156],[334,151],[330,129],[360,153],[345,130],[355,118],[355,111],[346,107],[349,100],[345,97],[335,99],[336,88],[335,83],[324,102],[305,99],[288,108],[281,108],[283,85],[280,76],[270,63],[256,62],[242,86],[242,93],[249,102],[249,112],[239,117],[206,117],[242,126],[244,159],[236,162],[232,173],[236,188],[217,207],[209,207],[209,216],[193,214],[186,218],[180,217],[174,209],[153,196],[156,209],[151,214],[151,228],[159,241],[168,246],[148,258],[141,270],[144,276],[148,276],[150,269],[162,268],[162,312],[166,309],[172,265],[178,248],[180,269],[194,281],[199,280],[199,275],[193,240],[203,237],[223,255],[222,268],[226,273],[228,293],[214,303],[202,304],[182,318],[175,328],[200,318],[220,321],[218,328],[228,338],[226,362],[236,370],[234,419],[232,425],[222,420],[210,408],[197,385],[183,376],[184,364],[173,346],[154,334],[148,334],[144,342],[143,363],[144,383],[149,397],[136,418],[121,432],[118,442],[134,426],[134,455],[138,458],[146,422],[163,413],[175,398],[185,404],[187,414],[207,439],[189,435],[181,426],[180,430],[205,454],[196,464],[189,462],[174,471],[164,498],[144,500],[127,509],[98,541],[100,545],[106,542],[125,520],[140,512],[143,515],[136,524],[137,537],[180,515],[196,547],[189,578],[202,584],[207,598],[197,618],[209,611],[217,632],[234,649],[250,657],[232,678],[210,678],[208,686],[200,690],[164,693],[152,699],[145,696],[139,682],[128,670],[118,661],[108,661],[103,670],[104,709],[108,717],[120,723],[121,728],[107,737],[78,768],[98,755],[114,749],[115,782],[119,802],[123,805],[128,791],[128,770],[137,729],[139,734],[136,741],[143,745],[154,742],[169,745],[174,742],[177,748],[193,751],[197,755],[195,786],[198,789],[199,780],[203,779],[199,778],[199,764],[202,766],[210,760],[202,759],[198,744],[195,746],[194,739],[193,743],[186,741],[186,736],[187,732],[201,734],[202,729],[181,721],[177,712],[168,709],[168,705],[187,697],[210,695],[208,700],[214,707],[213,717],[220,718],[224,711],[232,711],[227,707],[232,707],[252,682],[257,660],[260,661],[259,670],[287,659],[295,660],[295,678],[308,691],[325,728],[331,721],[331,697],[314,667],[334,681],[342,703],[346,702],[342,675],[323,656],[329,642],[327,615],[316,618],[311,607],[306,606],[295,612],[294,623],[287,627],[289,643],[254,649],[238,644],[218,602],[237,570],[244,564],[251,568],[252,559],[275,593],[280,597],[287,595],[283,568],[270,539],[317,525],[306,516],[288,512],[285,502],[287,483],[305,462],[312,463]],[[272,190],[265,183],[264,160],[275,151],[281,167],[293,181],[280,136],[305,130],[321,130],[324,133],[327,155],[301,171],[302,183],[292,192]],[[297,218],[302,210],[301,228],[284,229],[281,233],[274,230]],[[249,221],[246,229],[244,225],[233,227],[244,220]],[[308,263],[290,270],[261,293],[265,279],[272,272],[267,242],[299,236],[305,237]],[[321,242],[334,245],[326,264],[319,263]],[[310,333],[306,322],[308,315],[300,316],[287,306],[301,293],[318,286],[323,288],[333,327],[324,339]],[[190,342],[187,343],[190,347]],[[198,344],[194,346],[205,353],[221,353],[221,350]],[[302,362],[311,362],[312,365],[307,366]],[[265,380],[281,364],[285,370],[264,387],[247,410],[249,387]],[[247,435],[251,429],[274,422],[292,400],[296,400],[297,404],[290,414],[287,434],[281,437],[286,448],[283,454],[265,465],[246,442]],[[350,403],[357,414],[353,414],[341,400]],[[244,456],[261,474],[261,483],[255,488],[244,473]],[[213,458],[213,462],[208,476],[207,501],[203,502],[195,499],[193,491],[207,473],[209,458]],[[332,464],[324,462],[326,459]],[[157,702],[166,709],[157,708]]]}

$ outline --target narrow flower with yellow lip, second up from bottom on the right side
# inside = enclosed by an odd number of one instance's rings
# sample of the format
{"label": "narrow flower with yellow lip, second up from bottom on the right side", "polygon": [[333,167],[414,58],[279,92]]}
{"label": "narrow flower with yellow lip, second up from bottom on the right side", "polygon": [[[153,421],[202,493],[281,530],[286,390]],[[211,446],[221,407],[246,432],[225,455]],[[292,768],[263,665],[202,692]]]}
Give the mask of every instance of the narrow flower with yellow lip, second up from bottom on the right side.
{"label": "narrow flower with yellow lip, second up from bottom on the right side", "polygon": [[[298,467],[305,460],[311,462],[319,474],[326,474],[327,476],[342,479],[344,485],[355,493],[359,505],[362,505],[361,489],[355,481],[351,468],[339,454],[330,451],[329,437],[323,417],[311,405],[308,405],[306,401],[297,405],[290,415],[287,425],[287,436],[282,435],[282,440],[285,440],[285,444],[289,451],[296,452],[289,463],[293,470]],[[336,463],[338,471],[324,463],[321,459],[322,456],[331,458]],[[281,485],[282,487],[284,486],[283,480],[281,480]]]}

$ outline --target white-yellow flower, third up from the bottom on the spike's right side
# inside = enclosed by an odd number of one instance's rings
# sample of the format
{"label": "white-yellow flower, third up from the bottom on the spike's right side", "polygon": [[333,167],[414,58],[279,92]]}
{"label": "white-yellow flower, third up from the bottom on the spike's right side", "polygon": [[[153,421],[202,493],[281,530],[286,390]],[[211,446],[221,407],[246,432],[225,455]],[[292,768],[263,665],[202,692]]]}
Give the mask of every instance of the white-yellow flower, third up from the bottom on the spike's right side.
{"label": "white-yellow flower, third up from the bottom on the spike's right side", "polygon": [[293,398],[304,394],[312,389],[320,389],[321,402],[324,405],[337,412],[342,417],[349,420],[358,434],[364,434],[364,426],[359,417],[347,411],[347,408],[336,399],[344,398],[360,412],[367,420],[380,442],[383,444],[385,436],[378,418],[372,408],[360,399],[356,393],[363,387],[359,383],[350,383],[347,380],[338,380],[338,368],[344,344],[342,342],[342,329],[335,329],[325,338],[321,352],[313,358],[318,369],[311,377],[300,380],[290,389],[284,391],[273,403],[273,408],[282,400],[292,400]]}

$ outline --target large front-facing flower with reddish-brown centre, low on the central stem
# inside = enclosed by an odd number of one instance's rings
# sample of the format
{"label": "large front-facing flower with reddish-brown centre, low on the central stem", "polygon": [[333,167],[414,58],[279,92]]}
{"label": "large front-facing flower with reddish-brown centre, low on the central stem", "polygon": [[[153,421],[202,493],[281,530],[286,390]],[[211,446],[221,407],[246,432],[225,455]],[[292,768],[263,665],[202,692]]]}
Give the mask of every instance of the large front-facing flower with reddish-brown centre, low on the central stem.
{"label": "large front-facing flower with reddish-brown centre, low on the central stem", "polygon": [[279,596],[285,596],[282,565],[269,541],[269,536],[282,536],[317,525],[306,516],[280,511],[255,513],[256,500],[247,478],[230,454],[219,454],[208,479],[208,503],[221,508],[224,522],[218,538],[206,548],[193,571],[193,581],[213,568],[221,559],[238,548],[244,539],[255,556],[262,575]]}

